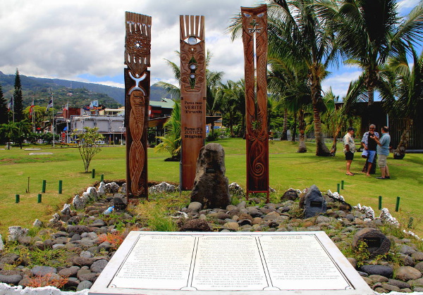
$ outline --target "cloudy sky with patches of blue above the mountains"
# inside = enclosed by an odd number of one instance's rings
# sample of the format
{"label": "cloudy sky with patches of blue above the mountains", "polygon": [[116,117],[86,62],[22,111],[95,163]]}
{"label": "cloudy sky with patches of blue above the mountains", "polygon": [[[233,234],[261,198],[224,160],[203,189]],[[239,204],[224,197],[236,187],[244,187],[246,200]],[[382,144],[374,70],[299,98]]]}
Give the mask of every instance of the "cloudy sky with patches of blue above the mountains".
{"label": "cloudy sky with patches of blue above the mountains", "polygon": [[[403,12],[418,0],[400,1]],[[212,51],[211,70],[224,80],[243,77],[243,45],[231,42],[226,27],[240,6],[257,0],[1,0],[0,71],[57,77],[123,87],[125,11],[152,16],[152,83],[173,84],[164,58],[179,63],[179,15],[204,15],[206,47]],[[336,95],[345,95],[359,68],[333,69],[324,81]]]}

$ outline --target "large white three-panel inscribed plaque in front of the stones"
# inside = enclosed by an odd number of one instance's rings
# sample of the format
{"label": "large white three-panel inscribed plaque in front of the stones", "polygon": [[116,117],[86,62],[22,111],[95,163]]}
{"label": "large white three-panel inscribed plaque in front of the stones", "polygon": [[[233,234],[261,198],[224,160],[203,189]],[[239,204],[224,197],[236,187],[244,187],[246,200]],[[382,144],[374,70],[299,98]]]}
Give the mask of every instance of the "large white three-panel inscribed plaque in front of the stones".
{"label": "large white three-panel inscribed plaque in front of the stones", "polygon": [[324,232],[130,232],[104,294],[373,294]]}

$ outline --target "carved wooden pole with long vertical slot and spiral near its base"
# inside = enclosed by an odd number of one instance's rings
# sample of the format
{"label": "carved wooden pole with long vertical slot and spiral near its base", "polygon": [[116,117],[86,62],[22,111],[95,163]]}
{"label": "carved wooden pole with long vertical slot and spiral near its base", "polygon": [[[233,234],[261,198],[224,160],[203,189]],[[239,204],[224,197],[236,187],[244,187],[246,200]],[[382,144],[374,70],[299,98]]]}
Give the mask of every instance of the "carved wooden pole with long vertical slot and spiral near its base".
{"label": "carved wooden pole with long vertical slot and spiral near its base", "polygon": [[267,131],[267,6],[241,7],[245,63],[247,125],[247,199],[250,192],[269,201],[269,133]]}

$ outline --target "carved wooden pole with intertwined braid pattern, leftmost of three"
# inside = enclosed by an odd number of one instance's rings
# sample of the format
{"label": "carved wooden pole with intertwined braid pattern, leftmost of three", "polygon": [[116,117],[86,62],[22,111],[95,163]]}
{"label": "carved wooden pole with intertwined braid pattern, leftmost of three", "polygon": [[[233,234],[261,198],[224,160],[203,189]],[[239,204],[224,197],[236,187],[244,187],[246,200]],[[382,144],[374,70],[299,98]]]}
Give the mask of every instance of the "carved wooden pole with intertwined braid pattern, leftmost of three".
{"label": "carved wooden pole with intertwined braid pattern, leftmost of three", "polygon": [[147,127],[152,18],[125,13],[126,189],[148,199]]}

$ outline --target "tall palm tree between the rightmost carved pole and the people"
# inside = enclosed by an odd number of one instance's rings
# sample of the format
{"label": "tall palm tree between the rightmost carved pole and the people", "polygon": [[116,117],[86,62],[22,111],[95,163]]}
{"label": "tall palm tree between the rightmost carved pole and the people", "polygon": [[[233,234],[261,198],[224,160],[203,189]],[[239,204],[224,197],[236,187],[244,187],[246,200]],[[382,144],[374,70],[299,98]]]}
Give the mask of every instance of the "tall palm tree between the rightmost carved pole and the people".
{"label": "tall palm tree between the rightmost carved pole and the people", "polygon": [[[336,60],[336,48],[329,21],[319,17],[313,4],[313,0],[269,0],[269,56],[284,57],[290,63],[307,65],[316,155],[330,156],[321,134],[318,105],[321,101],[321,81],[327,75],[329,63]],[[233,38],[238,36],[240,29],[240,17],[233,18],[233,23],[228,27]]]}

